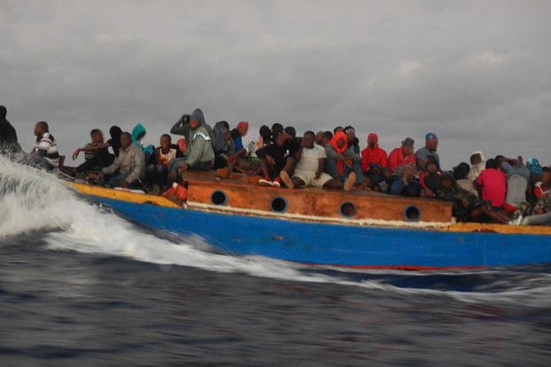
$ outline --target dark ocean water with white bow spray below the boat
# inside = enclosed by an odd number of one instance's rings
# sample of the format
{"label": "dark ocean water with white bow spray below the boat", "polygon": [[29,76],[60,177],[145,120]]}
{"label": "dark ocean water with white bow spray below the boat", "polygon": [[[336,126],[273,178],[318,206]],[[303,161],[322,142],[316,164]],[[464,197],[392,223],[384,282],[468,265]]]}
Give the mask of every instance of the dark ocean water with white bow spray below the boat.
{"label": "dark ocean water with white bow spray below the boat", "polygon": [[0,365],[549,366],[551,266],[222,254],[0,159]]}

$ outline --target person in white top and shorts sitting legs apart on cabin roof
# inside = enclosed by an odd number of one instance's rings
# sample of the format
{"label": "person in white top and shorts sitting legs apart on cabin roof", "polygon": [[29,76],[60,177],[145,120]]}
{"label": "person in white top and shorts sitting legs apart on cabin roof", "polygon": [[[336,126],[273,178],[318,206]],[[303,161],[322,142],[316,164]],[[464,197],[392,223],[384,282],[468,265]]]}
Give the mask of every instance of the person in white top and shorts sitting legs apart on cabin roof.
{"label": "person in white top and shorts sitting legs apart on cabin roof", "polygon": [[314,143],[313,131],[306,131],[300,148],[300,159],[296,163],[294,176],[289,176],[285,170],[281,171],[281,179],[289,189],[301,186],[322,187],[328,190],[350,191],[356,182],[356,175],[351,172],[345,183],[337,181],[323,170],[326,163],[326,151],[322,146]]}

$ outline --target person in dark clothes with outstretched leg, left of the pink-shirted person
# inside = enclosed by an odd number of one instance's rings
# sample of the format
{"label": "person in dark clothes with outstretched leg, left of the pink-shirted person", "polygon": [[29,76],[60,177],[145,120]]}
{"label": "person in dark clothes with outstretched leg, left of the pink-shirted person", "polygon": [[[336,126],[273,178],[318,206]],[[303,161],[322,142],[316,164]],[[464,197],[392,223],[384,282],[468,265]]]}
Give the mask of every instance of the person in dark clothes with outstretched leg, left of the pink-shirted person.
{"label": "person in dark clothes with outstretched leg, left of the pink-shirted person", "polygon": [[458,188],[452,174],[445,172],[439,178],[436,197],[453,203],[453,216],[458,222],[479,222],[485,217],[495,223],[508,223],[507,215],[494,210],[473,193]]}

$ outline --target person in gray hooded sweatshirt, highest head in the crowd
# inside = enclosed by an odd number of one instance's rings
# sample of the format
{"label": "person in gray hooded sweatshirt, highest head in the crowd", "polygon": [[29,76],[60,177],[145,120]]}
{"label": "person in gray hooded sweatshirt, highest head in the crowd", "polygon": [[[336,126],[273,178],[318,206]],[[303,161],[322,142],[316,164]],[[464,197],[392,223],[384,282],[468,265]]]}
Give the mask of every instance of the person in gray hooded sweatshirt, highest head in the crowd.
{"label": "person in gray hooded sweatshirt, highest head in the crowd", "polygon": [[187,170],[208,171],[212,168],[215,153],[212,149],[212,138],[209,129],[206,128],[205,117],[201,109],[197,108],[189,119],[189,140],[185,157],[172,160],[170,164],[170,177],[177,177],[178,169],[184,173]]}

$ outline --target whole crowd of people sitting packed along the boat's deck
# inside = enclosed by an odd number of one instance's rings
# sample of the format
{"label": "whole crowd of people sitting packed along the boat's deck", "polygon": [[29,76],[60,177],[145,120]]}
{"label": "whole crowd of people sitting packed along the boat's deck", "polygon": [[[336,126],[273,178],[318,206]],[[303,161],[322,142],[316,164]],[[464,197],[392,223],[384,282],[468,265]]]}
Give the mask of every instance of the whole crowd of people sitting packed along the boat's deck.
{"label": "whole crowd of people sitting packed along the boat's deck", "polygon": [[[5,115],[5,107],[0,106],[0,142],[20,149]],[[146,128],[141,124],[131,133],[114,126],[108,140],[101,130],[92,129],[90,143],[73,153],[73,160],[84,153],[83,164],[61,168],[55,138],[41,121],[35,124],[35,147],[30,154],[69,175],[84,175],[110,187],[160,193],[185,181],[188,171],[214,169],[224,178],[235,173],[258,176],[259,185],[275,188],[365,190],[442,199],[453,203],[453,216],[461,222],[551,224],[550,168],[533,158],[524,162],[522,157],[498,155],[486,160],[479,151],[470,154],[470,164],[460,162],[446,172],[440,166],[434,133],[426,135],[421,149],[415,150],[413,138],[405,137],[387,154],[375,133],[367,136],[362,149],[352,126],[306,131],[298,137],[294,127],[274,123],[262,126],[258,138],[244,144],[247,121],[234,129],[227,121],[211,127],[199,108],[183,115],[170,133],[180,136],[176,143],[163,134],[154,147],[143,144]]]}

